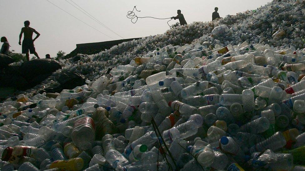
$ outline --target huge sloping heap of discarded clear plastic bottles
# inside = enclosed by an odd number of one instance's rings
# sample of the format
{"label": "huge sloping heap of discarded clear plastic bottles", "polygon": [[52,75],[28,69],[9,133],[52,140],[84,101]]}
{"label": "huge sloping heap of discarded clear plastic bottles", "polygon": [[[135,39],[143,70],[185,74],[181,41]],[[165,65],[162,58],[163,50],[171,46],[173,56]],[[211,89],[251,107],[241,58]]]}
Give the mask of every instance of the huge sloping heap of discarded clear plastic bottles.
{"label": "huge sloping heap of discarded clear plastic bottles", "polygon": [[0,103],[1,170],[304,170],[304,4],[61,60],[86,84]]}

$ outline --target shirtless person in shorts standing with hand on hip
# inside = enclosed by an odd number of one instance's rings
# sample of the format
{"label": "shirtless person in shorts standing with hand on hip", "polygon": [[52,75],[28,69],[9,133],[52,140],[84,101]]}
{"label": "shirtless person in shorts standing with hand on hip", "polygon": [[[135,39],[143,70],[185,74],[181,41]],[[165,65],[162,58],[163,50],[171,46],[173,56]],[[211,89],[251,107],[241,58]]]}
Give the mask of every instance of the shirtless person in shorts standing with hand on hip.
{"label": "shirtless person in shorts standing with hand on hip", "polygon": [[[30,21],[24,21],[24,27],[21,29],[19,35],[19,45],[21,45],[22,33],[24,34],[24,38],[22,41],[22,54],[26,54],[27,60],[30,60],[30,51],[31,54],[34,54],[39,59],[39,56],[35,51],[34,41],[40,36],[40,34],[35,29],[30,27]],[[32,39],[33,33],[36,33],[37,35],[34,39]]]}

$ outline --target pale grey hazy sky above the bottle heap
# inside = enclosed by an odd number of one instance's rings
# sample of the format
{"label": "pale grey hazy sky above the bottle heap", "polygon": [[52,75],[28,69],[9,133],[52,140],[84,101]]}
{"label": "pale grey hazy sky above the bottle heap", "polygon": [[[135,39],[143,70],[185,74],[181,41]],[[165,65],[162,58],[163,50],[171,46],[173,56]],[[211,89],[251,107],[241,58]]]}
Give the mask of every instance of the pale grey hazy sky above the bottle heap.
{"label": "pale grey hazy sky above the bottle heap", "polygon": [[[35,47],[40,57],[47,53],[55,57],[58,50],[70,53],[76,48],[76,44],[101,42],[122,39],[105,27],[93,21],[91,18],[78,11],[68,2],[77,3],[80,7],[97,18],[110,29],[123,38],[136,38],[149,35],[162,34],[169,26],[168,20],[157,20],[151,18],[139,18],[133,24],[126,17],[127,12],[133,10],[137,5],[138,17],[152,16],[157,18],[168,18],[177,15],[180,9],[187,23],[193,21],[209,21],[212,19],[214,7],[218,7],[219,15],[235,15],[237,12],[256,9],[271,0],[49,0],[58,5],[80,20],[93,26],[113,39],[87,26],[53,6],[46,0],[0,0],[0,36],[6,36],[11,45],[10,50],[21,52],[18,45],[19,33],[24,26],[23,22],[29,20],[31,27],[36,29],[41,36],[35,41]],[[75,4],[74,4],[75,5]],[[173,24],[178,20],[172,20]],[[34,37],[34,36],[33,36]],[[23,39],[23,38],[22,38]],[[34,56],[34,55],[30,55]]]}

